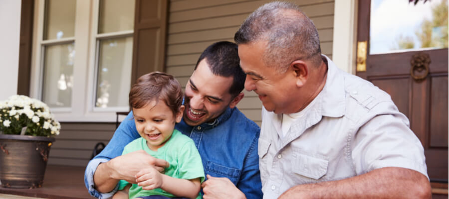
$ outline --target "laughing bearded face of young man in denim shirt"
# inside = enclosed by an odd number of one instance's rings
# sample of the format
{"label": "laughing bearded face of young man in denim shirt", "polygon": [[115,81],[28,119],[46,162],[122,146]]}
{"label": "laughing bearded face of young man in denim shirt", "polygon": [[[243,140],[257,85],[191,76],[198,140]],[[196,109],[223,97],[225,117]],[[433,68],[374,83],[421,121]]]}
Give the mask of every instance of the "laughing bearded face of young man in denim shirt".
{"label": "laughing bearded face of young man in denim shirt", "polygon": [[200,61],[186,85],[184,121],[190,126],[212,122],[228,105],[233,108],[236,103],[230,104],[229,94],[232,80],[232,77],[214,75],[206,59]]}

